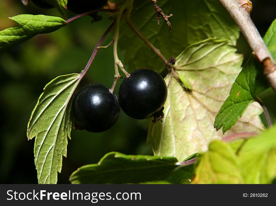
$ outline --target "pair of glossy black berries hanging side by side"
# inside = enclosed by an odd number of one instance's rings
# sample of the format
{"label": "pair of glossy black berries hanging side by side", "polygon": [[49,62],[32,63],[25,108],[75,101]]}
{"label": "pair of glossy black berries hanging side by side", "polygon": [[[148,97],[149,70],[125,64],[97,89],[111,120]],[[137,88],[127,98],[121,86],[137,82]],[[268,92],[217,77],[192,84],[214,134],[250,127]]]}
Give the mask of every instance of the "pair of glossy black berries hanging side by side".
{"label": "pair of glossy black berries hanging side by side", "polygon": [[117,121],[120,107],[134,119],[146,119],[160,116],[166,99],[163,77],[154,70],[141,68],[123,80],[118,98],[102,84],[83,87],[73,99],[72,113],[77,128],[103,132]]}

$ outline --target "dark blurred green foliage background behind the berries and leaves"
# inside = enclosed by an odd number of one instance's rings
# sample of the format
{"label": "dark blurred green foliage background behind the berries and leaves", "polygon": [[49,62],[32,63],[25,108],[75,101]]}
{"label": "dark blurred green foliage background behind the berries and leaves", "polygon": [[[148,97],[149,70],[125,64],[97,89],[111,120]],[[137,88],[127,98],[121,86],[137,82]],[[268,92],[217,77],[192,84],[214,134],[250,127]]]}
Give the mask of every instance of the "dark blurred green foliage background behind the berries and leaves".
{"label": "dark blurred green foliage background behind the berries and leaves", "polygon": [[[252,3],[251,17],[263,36],[275,18],[276,2],[270,1],[268,4],[253,0]],[[0,30],[16,25],[8,17],[24,13],[61,17],[55,8],[40,9],[32,2],[26,7],[20,0],[1,0]],[[66,15],[69,18],[75,14],[67,11]],[[31,111],[43,87],[50,80],[59,75],[80,72],[86,66],[96,43],[111,24],[107,14],[101,15],[101,22],[92,24],[92,18],[85,16],[54,33],[37,35],[0,54],[0,183],[37,183],[34,140],[28,141],[26,136]],[[109,34],[103,45],[107,45],[111,39],[112,34]],[[242,35],[237,42],[237,49],[238,53],[244,54],[245,63],[251,50]],[[124,62],[124,51],[119,50],[118,54]],[[127,65],[125,68],[128,70]],[[111,87],[113,78],[113,50],[109,47],[98,51],[80,87],[89,83],[102,83]],[[116,94],[121,81],[119,79],[117,82]],[[275,122],[275,93],[268,89],[260,98]],[[267,125],[263,114],[261,118]],[[152,155],[151,145],[146,144],[147,124],[147,120],[132,119],[121,111],[115,125],[103,133],[72,130],[67,158],[63,158],[62,172],[58,173],[58,183],[70,183],[68,178],[73,171],[82,165],[97,163],[110,151]]]}

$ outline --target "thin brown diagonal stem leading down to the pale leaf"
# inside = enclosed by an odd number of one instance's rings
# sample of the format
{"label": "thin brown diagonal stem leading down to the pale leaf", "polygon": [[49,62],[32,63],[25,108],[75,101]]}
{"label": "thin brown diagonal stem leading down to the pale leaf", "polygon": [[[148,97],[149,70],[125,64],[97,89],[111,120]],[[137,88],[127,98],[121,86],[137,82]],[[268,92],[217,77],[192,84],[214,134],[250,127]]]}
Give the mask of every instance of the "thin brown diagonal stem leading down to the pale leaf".
{"label": "thin brown diagonal stem leading down to the pale leaf", "polygon": [[140,37],[140,39],[145,42],[146,45],[148,45],[148,47],[151,48],[151,50],[164,62],[164,64],[167,66],[168,61],[167,59],[161,54],[161,52],[154,46],[151,44],[151,42],[149,40],[146,39],[146,37],[143,36],[143,34],[136,29],[136,27],[133,25],[132,21],[130,20],[130,16],[129,15],[125,15],[125,21],[127,23],[127,25],[135,32],[135,34],[137,34],[137,36]]}

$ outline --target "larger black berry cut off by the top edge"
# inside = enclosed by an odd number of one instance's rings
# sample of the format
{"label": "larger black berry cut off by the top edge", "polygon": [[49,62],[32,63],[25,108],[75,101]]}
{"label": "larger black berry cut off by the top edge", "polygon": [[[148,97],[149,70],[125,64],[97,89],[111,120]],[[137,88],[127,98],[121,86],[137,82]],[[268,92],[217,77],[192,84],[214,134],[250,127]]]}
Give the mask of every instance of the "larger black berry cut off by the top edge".
{"label": "larger black berry cut off by the top edge", "polygon": [[87,11],[102,8],[107,0],[67,0],[67,8],[75,13],[84,13]]}

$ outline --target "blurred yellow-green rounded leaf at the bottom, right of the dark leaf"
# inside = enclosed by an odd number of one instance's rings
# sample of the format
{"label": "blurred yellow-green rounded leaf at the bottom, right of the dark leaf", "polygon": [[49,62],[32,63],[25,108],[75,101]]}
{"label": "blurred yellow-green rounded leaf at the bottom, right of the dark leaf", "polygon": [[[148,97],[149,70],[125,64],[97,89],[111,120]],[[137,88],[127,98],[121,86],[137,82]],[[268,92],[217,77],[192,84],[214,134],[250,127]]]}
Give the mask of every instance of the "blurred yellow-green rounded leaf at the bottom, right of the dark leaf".
{"label": "blurred yellow-green rounded leaf at the bottom, right of the dark leaf", "polygon": [[230,145],[215,140],[195,163],[194,184],[241,184],[240,163]]}

